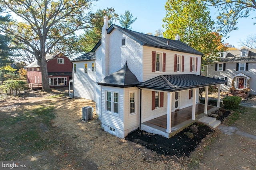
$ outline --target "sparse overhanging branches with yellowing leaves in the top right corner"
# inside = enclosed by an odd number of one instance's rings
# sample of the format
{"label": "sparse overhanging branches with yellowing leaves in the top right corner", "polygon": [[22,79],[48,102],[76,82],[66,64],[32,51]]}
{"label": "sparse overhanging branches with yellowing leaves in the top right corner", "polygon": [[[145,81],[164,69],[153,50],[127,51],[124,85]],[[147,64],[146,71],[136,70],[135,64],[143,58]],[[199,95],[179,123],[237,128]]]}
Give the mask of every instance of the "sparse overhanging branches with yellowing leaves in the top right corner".
{"label": "sparse overhanging branches with yellowing leaves in the top right corner", "polygon": [[[255,0],[206,0],[206,2],[210,2],[218,9],[218,31],[224,36],[230,31],[238,29],[236,27],[238,18],[247,18],[256,10]],[[253,19],[255,20],[255,18]]]}

